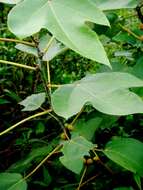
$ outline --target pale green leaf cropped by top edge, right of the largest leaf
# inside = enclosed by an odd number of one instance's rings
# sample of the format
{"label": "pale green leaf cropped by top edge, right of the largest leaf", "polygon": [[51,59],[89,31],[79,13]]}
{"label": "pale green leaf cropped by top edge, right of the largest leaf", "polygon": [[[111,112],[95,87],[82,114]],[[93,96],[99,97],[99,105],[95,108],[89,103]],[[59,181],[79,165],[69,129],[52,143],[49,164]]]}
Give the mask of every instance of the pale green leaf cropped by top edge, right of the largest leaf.
{"label": "pale green leaf cropped by top edge, right of the largest leaf", "polygon": [[136,0],[92,0],[101,10],[135,8]]}

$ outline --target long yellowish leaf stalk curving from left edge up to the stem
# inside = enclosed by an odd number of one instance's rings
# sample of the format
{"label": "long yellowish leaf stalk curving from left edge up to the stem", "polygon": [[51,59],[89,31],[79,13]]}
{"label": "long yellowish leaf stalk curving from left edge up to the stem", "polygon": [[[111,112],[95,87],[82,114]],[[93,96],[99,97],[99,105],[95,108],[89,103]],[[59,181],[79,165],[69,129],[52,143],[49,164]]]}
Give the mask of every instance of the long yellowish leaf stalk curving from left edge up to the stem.
{"label": "long yellowish leaf stalk curving from left edge up to the stem", "polygon": [[25,119],[19,121],[18,123],[12,125],[12,126],[9,127],[8,129],[2,131],[2,132],[0,133],[0,136],[2,136],[2,135],[4,135],[4,134],[8,133],[9,131],[15,129],[17,126],[21,125],[22,123],[25,123],[26,121],[29,121],[29,120],[31,120],[31,119],[33,119],[33,118],[36,118],[36,117],[39,117],[39,116],[48,114],[48,113],[50,113],[51,111],[52,111],[52,110],[49,109],[49,110],[46,110],[46,111],[43,111],[43,112],[34,114],[34,115],[32,115],[32,116],[29,116],[29,117],[27,117],[27,118],[25,118]]}

